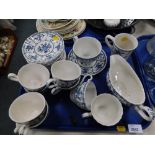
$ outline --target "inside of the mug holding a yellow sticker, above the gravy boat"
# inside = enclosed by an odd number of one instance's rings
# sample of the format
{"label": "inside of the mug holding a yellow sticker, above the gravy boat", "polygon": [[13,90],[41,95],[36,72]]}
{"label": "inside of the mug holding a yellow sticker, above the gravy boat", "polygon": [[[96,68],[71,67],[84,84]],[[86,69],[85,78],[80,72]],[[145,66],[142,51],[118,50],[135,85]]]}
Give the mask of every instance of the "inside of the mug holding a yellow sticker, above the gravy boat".
{"label": "inside of the mug holding a yellow sticker, above the gravy boat", "polygon": [[119,49],[122,49],[125,51],[131,51],[137,48],[138,41],[133,35],[122,33],[122,34],[118,34],[115,37],[115,45]]}

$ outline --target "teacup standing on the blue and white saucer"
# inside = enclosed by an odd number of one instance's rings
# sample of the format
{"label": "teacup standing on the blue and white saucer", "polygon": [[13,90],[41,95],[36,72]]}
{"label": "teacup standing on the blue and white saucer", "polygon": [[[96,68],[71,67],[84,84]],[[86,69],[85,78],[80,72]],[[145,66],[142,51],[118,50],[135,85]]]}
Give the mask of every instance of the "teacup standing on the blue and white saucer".
{"label": "teacup standing on the blue and white saucer", "polygon": [[92,67],[102,51],[101,43],[93,37],[74,37],[73,52],[83,67]]}

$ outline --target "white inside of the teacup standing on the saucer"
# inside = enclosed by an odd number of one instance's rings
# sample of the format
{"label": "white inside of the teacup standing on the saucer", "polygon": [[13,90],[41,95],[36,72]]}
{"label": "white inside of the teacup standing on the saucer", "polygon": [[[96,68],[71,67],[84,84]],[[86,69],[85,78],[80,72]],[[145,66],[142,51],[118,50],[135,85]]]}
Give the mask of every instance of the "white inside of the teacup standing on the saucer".
{"label": "white inside of the teacup standing on the saucer", "polygon": [[79,38],[73,45],[75,55],[83,59],[94,58],[99,55],[101,50],[101,43],[93,37]]}

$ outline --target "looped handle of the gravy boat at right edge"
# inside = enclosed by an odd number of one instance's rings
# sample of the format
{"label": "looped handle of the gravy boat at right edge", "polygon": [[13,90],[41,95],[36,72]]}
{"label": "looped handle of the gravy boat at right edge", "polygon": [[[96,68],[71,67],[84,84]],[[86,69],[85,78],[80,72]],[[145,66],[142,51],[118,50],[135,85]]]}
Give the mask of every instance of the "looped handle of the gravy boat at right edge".
{"label": "looped handle of the gravy boat at right edge", "polygon": [[155,112],[150,107],[147,106],[143,105],[135,106],[135,110],[146,121],[152,121],[155,116]]}

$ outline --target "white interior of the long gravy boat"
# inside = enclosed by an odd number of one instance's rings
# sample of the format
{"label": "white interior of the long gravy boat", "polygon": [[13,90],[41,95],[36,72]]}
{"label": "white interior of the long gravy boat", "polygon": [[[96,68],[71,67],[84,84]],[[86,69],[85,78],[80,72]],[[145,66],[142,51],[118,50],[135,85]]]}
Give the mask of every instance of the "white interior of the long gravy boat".
{"label": "white interior of the long gravy boat", "polygon": [[119,55],[110,56],[109,78],[115,91],[128,102],[135,105],[144,103],[145,92],[141,81],[127,61]]}

